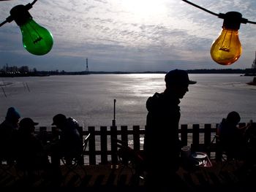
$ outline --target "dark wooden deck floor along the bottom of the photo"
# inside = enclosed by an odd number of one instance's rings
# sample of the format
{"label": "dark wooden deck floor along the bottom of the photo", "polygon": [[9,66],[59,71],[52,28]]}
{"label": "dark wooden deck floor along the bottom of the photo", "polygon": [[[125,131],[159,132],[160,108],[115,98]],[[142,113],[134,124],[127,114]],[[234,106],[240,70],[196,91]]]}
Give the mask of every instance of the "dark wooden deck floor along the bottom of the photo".
{"label": "dark wooden deck floor along the bottom of the photo", "polygon": [[[222,163],[213,161],[210,168],[200,168],[193,171],[187,171],[183,168],[178,170],[178,177],[183,186],[187,186],[188,191],[246,191],[254,188],[256,181],[256,169],[239,173],[234,164],[229,164],[221,170]],[[237,165],[236,165],[237,166]],[[10,172],[4,172],[4,165],[0,169],[0,187],[15,188],[64,188],[67,190],[78,191],[146,191],[144,180],[135,180],[132,177],[131,169],[121,166],[118,169],[110,169],[109,165],[89,165],[84,166],[86,174],[82,169],[77,169],[77,173],[70,172],[67,177],[61,180],[61,183],[48,180],[48,178],[34,177],[33,182],[28,182],[26,177],[17,175],[15,169]],[[164,167],[160,169],[165,169]],[[67,170],[61,167],[62,174]],[[177,188],[176,183],[171,183],[173,188]]]}

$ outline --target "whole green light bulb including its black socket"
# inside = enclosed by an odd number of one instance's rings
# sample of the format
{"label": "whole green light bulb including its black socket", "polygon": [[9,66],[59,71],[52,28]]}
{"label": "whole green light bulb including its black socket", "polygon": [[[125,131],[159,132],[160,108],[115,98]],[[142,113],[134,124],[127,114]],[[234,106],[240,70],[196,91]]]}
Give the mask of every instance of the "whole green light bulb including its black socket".
{"label": "whole green light bulb including its black socket", "polygon": [[10,14],[17,25],[20,26],[23,46],[29,53],[45,55],[51,50],[53,47],[53,35],[32,19],[28,7],[17,5],[11,9]]}

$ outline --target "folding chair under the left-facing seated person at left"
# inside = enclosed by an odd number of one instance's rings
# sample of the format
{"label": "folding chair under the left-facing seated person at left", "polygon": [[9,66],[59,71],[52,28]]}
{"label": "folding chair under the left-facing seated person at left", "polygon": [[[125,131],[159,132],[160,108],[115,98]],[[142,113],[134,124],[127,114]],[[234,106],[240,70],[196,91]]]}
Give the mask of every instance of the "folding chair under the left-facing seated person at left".
{"label": "folding chair under the left-facing seated person at left", "polygon": [[66,161],[66,159],[64,157],[61,158],[62,164],[64,165],[65,168],[67,168],[67,172],[64,174],[64,178],[65,179],[67,178],[69,173],[72,172],[77,177],[79,177],[80,180],[82,180],[82,178],[80,177],[80,174],[77,171],[78,168],[82,169],[85,175],[87,174],[86,169],[85,169],[84,164],[83,164],[83,154],[86,151],[86,147],[88,145],[90,136],[91,136],[91,134],[88,134],[86,136],[86,138],[83,139],[83,153],[81,153],[78,157],[72,158],[72,162],[71,163],[67,163],[67,161]]}

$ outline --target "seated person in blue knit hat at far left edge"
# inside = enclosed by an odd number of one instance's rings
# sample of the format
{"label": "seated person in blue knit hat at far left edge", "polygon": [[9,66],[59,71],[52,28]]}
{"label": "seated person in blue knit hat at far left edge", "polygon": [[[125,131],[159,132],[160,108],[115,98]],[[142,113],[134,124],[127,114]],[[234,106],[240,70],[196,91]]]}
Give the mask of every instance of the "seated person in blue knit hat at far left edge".
{"label": "seated person in blue knit hat at far left edge", "polygon": [[0,159],[7,164],[14,162],[14,141],[18,130],[20,113],[15,107],[9,107],[5,120],[0,124]]}

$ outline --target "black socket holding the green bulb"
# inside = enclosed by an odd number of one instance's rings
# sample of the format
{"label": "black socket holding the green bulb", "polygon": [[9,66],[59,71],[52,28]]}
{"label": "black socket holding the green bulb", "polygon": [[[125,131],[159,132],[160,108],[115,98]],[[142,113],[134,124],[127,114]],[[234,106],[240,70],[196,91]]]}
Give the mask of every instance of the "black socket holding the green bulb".
{"label": "black socket holding the green bulb", "polygon": [[27,20],[32,18],[27,7],[24,6],[23,4],[19,4],[13,7],[10,10],[10,15],[12,19],[15,20],[18,26],[22,26],[23,24],[26,23]]}

